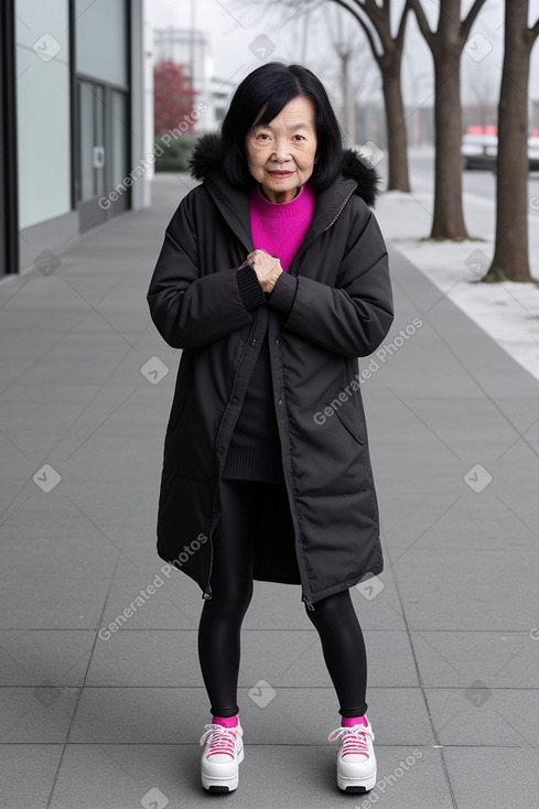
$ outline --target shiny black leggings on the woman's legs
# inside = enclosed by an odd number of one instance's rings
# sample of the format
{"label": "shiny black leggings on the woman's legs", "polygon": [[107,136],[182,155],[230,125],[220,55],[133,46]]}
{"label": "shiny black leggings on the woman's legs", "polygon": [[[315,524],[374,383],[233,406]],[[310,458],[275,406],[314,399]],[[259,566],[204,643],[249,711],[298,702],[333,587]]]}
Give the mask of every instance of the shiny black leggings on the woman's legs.
{"label": "shiny black leggings on the woman's legs", "polygon": [[[212,598],[205,601],[198,625],[198,659],[216,716],[234,716],[240,659],[240,628],[252,596],[250,538],[261,514],[260,496],[287,497],[284,486],[258,481],[222,481],[222,516],[214,531]],[[290,511],[289,511],[290,514]],[[305,612],[316,627],[342,716],[367,712],[367,655],[349,590],[317,601]]]}

